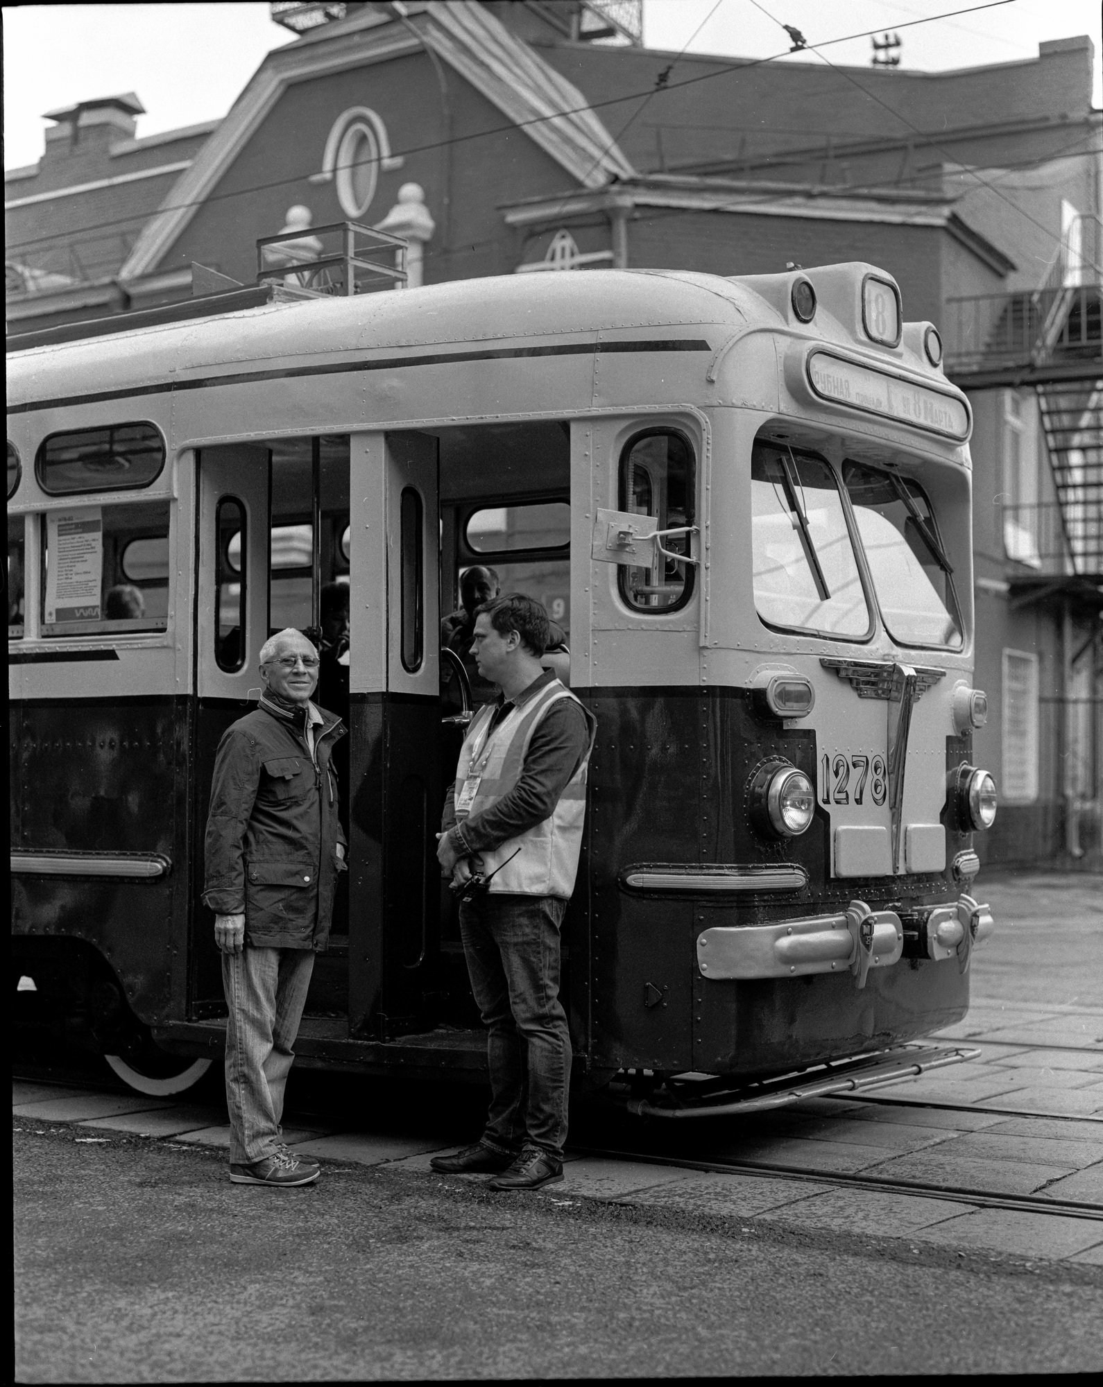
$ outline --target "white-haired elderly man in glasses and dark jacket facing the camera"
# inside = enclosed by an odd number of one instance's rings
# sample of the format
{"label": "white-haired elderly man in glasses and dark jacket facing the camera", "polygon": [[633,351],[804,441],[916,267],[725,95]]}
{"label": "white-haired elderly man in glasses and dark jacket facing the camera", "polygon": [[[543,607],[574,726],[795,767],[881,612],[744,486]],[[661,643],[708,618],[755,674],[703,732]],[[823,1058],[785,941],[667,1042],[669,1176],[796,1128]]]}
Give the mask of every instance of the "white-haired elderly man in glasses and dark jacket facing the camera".
{"label": "white-haired elderly man in glasses and dark jacket facing the camera", "polygon": [[314,956],[345,870],[332,764],[345,728],[311,702],[318,651],[300,631],[273,635],[259,664],[259,706],[226,730],[215,757],[203,899],[229,1011],[230,1180],[283,1189],[318,1179],[318,1162],[283,1144],[280,1121]]}

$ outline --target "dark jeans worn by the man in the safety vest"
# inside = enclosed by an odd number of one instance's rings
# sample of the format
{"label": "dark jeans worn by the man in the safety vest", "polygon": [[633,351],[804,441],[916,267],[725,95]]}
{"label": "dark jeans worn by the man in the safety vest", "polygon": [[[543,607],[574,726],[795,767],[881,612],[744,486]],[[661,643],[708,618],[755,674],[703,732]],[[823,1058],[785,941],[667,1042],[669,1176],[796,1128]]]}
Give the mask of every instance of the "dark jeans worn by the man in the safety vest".
{"label": "dark jeans worn by the man in the safety vest", "polygon": [[538,1147],[562,1161],[570,1035],[559,1001],[555,896],[486,895],[459,907],[472,992],[488,1028],[490,1112],[483,1142],[515,1154]]}

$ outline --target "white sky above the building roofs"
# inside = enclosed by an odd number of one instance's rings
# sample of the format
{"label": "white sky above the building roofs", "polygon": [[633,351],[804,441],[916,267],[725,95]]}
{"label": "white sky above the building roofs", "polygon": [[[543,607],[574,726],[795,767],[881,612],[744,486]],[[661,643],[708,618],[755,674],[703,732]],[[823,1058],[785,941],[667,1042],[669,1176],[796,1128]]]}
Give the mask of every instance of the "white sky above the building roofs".
{"label": "white sky above the building roofs", "polygon": [[[760,0],[809,43],[964,8],[968,0]],[[760,58],[783,53],[780,24],[752,0],[644,0],[649,47]],[[225,115],[265,53],[291,42],[266,4],[4,6],[4,166],[42,155],[43,111],[136,92],[155,135]],[[1095,43],[1095,105],[1103,105],[1099,0],[1011,0],[899,31],[903,67],[939,69],[1038,54],[1043,39],[1086,33]],[[695,32],[698,31],[699,32]],[[870,39],[826,50],[832,62],[867,65]],[[803,61],[819,62],[814,54]],[[613,122],[615,123],[615,122]]]}

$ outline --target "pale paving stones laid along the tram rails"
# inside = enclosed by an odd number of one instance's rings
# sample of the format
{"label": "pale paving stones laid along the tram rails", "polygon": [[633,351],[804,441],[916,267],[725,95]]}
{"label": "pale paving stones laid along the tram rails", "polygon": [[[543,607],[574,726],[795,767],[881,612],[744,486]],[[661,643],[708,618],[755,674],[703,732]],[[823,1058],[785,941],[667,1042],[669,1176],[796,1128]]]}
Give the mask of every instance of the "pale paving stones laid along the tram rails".
{"label": "pale paving stones laid along the tram rails", "polygon": [[[966,1068],[966,1067],[961,1067]],[[963,1085],[963,1089],[971,1085]],[[208,1147],[229,1146],[215,1108],[126,1094],[80,1093],[12,1085],[21,1121],[74,1123],[86,1137],[118,1132]],[[572,1153],[561,1184],[537,1197],[597,1200],[640,1208],[681,1209],[712,1219],[758,1219],[778,1226],[907,1237],[1035,1261],[1103,1266],[1103,1222],[1061,1214],[980,1208],[895,1190],[839,1189],[814,1175],[945,1180],[1007,1194],[1046,1194],[1103,1209],[1103,1125],[1093,1121],[1007,1118],[925,1107],[816,1100],[756,1121],[753,1133],[712,1142],[703,1160],[724,1155],[785,1164],[810,1178],[702,1172],[648,1161]],[[429,1175],[440,1140],[364,1132],[289,1129],[289,1144],[326,1162],[387,1165]],[[462,1176],[452,1179],[465,1179]],[[477,1179],[477,1178],[466,1178]],[[1079,1183],[1078,1183],[1079,1182]]]}

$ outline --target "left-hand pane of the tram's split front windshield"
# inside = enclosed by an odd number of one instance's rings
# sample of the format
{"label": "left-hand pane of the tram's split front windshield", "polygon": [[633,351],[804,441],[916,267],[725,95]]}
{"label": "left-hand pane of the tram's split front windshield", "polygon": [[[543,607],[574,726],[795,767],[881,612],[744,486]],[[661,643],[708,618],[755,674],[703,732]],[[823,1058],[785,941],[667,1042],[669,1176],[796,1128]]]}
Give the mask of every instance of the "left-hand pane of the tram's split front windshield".
{"label": "left-hand pane of the tram's split front windshield", "polygon": [[838,483],[828,465],[784,444],[751,455],[755,608],[767,626],[837,639],[871,632]]}

